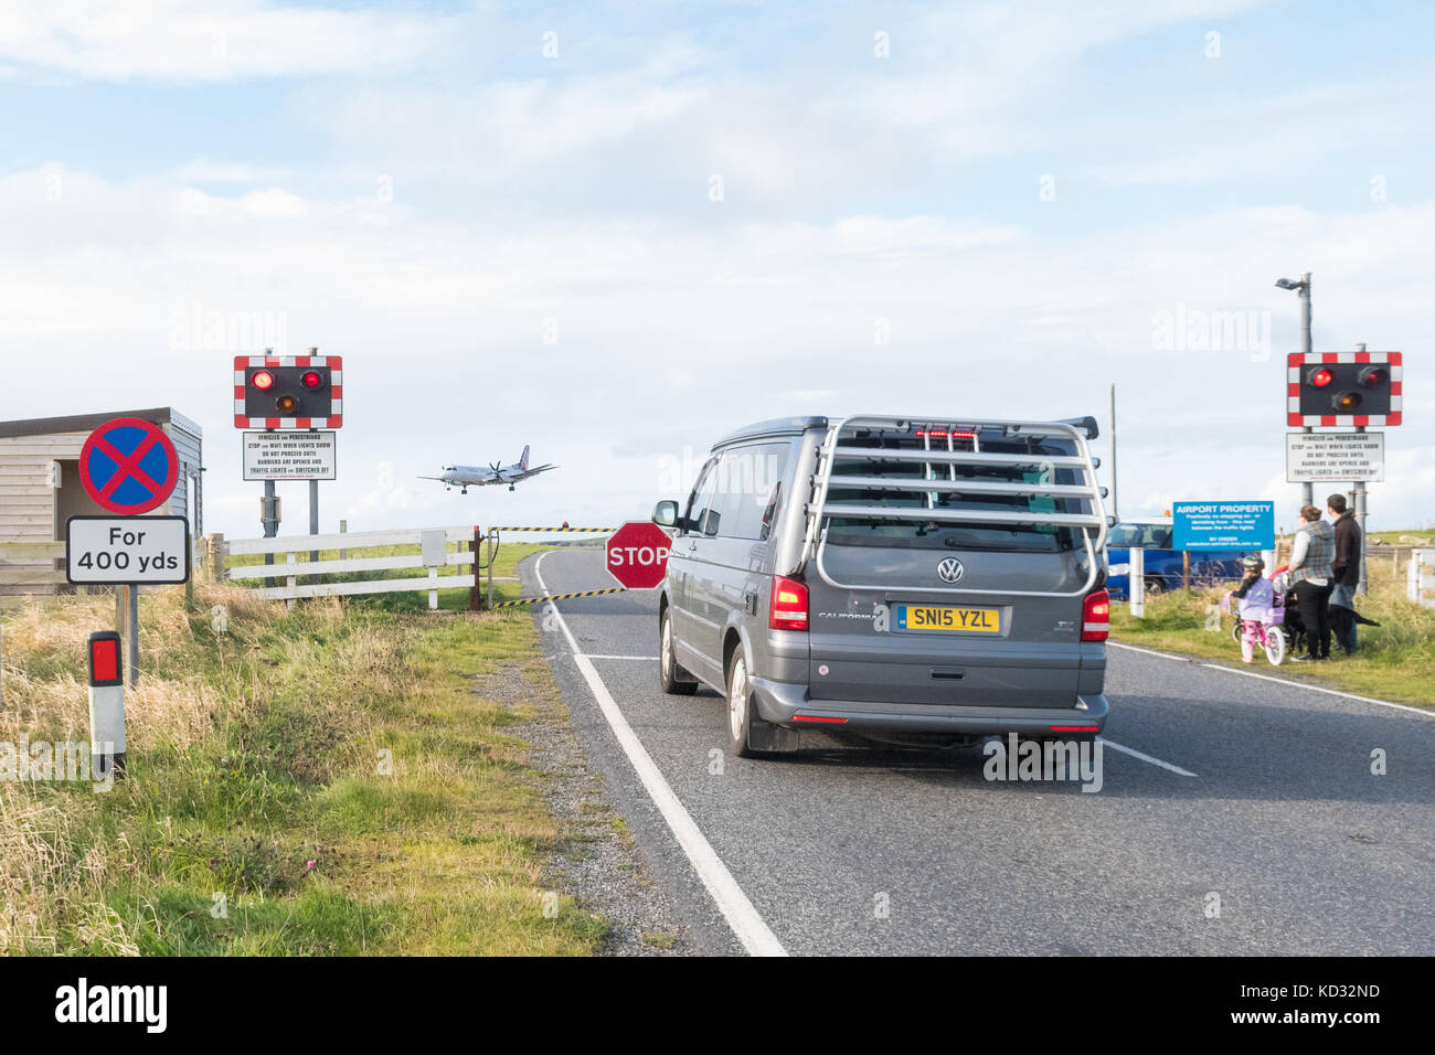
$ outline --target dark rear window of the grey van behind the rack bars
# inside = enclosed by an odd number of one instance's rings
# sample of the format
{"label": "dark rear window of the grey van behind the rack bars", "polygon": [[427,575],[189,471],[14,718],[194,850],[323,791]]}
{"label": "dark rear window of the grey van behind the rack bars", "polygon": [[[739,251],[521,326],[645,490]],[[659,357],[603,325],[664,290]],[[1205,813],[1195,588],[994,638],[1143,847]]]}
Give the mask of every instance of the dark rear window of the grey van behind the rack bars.
{"label": "dark rear window of the grey van behind the rack bars", "polygon": [[[852,442],[852,441],[847,441]],[[855,445],[855,444],[854,444]],[[920,451],[920,441],[910,436],[881,438],[872,446],[880,449]],[[943,444],[943,448],[946,445]],[[973,449],[971,441],[954,445],[954,449]],[[1032,454],[1033,456],[1059,456],[1071,454],[1052,445],[983,444],[982,451],[1000,454]],[[844,488],[842,477],[880,477],[891,481],[910,481],[911,488],[903,491],[872,491],[867,488]],[[973,495],[930,491],[923,488],[927,479],[976,481],[1002,484],[1081,484],[1072,469],[1040,469],[1036,466],[1007,465],[924,465],[907,461],[844,461],[832,472],[828,492],[829,504],[871,505],[875,508],[903,510],[990,510],[1002,512],[1085,512],[1085,502],[1075,498],[1050,498],[1042,495]],[[832,517],[828,524],[829,545],[872,545],[921,550],[1022,550],[1030,553],[1060,553],[1081,548],[1081,530],[1052,524],[983,524],[973,521],[881,521],[867,518]]]}

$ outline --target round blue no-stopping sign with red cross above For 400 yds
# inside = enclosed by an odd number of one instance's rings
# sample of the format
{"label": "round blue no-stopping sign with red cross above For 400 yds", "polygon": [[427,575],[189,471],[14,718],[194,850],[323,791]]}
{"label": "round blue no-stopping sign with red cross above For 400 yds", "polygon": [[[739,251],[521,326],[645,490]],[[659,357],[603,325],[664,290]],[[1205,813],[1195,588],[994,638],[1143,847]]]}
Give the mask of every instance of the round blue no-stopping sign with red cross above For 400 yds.
{"label": "round blue no-stopping sign with red cross above For 400 yds", "polygon": [[158,510],[179,482],[179,455],[154,422],[116,418],[80,451],[80,484],[100,508],[122,517]]}

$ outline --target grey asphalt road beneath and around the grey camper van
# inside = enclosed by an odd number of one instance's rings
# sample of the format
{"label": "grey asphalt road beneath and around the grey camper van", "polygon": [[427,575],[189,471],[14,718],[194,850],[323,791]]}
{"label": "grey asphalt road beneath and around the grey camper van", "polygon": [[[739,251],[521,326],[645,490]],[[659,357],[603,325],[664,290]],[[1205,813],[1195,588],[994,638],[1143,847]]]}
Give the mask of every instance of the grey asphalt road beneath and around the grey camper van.
{"label": "grey asphalt road beneath and around the grey camper van", "polygon": [[[521,574],[537,593],[611,586],[601,550]],[[1095,794],[987,781],[979,749],[814,739],[749,761],[723,749],[719,696],[659,690],[656,606],[535,619],[590,764],[705,952],[752,952],[756,927],[791,955],[1435,953],[1435,716],[1112,647]]]}

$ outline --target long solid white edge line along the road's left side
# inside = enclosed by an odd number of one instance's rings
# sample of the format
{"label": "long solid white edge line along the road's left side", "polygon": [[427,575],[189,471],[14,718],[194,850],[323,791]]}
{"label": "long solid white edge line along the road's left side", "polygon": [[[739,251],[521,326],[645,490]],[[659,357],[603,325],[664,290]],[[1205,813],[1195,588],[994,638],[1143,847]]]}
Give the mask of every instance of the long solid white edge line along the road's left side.
{"label": "long solid white edge line along the road's left side", "polygon": [[[544,591],[544,596],[550,593],[548,586],[542,581],[542,558],[547,555],[547,553],[540,554],[534,563],[534,577],[538,580],[538,589]],[[623,754],[633,764],[633,769],[643,782],[649,798],[653,800],[659,812],[663,814],[663,820],[667,821],[667,827],[677,840],[677,844],[687,854],[687,861],[693,866],[693,871],[697,873],[697,878],[703,881],[707,893],[718,903],[718,910],[728,920],[732,933],[738,936],[742,947],[752,956],[786,956],[788,950],[782,947],[778,936],[772,933],[762,916],[752,906],[752,901],[742,893],[738,880],[732,877],[728,866],[718,857],[718,851],[703,837],[703,833],[687,812],[682,800],[677,798],[663,778],[663,772],[657,768],[653,756],[647,754],[647,748],[643,746],[637,733],[633,732],[633,726],[627,723],[623,712],[618,711],[617,702],[603,683],[603,679],[598,677],[597,667],[593,666],[594,657],[585,656],[578,650],[578,642],[574,639],[573,632],[568,630],[568,623],[564,620],[563,613],[558,611],[558,606],[550,601],[548,607],[554,619],[558,620],[558,629],[563,630],[563,636],[568,639],[568,646],[573,649],[573,659],[583,673],[583,680],[588,683],[593,698],[598,702],[598,709],[608,719],[608,725],[613,728]]]}

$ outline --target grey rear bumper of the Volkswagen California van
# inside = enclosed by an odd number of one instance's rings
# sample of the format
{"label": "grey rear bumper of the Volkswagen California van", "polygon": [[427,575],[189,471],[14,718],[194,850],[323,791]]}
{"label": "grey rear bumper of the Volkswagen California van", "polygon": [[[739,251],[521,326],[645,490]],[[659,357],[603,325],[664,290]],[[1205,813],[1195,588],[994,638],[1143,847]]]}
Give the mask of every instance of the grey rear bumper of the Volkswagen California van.
{"label": "grey rear bumper of the Volkswagen California van", "polygon": [[[1030,735],[1053,735],[1053,725],[1106,723],[1105,695],[1078,696],[1085,703],[1081,708],[1006,708],[1006,706],[954,706],[944,703],[888,703],[850,699],[819,699],[808,695],[808,686],[788,682],[752,679],[758,698],[758,713],[762,721],[792,729],[871,729],[881,732],[949,732],[949,733],[1003,733],[1025,732]],[[806,719],[837,719],[831,723]],[[1060,733],[1055,733],[1060,735]]]}

